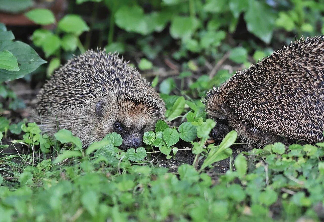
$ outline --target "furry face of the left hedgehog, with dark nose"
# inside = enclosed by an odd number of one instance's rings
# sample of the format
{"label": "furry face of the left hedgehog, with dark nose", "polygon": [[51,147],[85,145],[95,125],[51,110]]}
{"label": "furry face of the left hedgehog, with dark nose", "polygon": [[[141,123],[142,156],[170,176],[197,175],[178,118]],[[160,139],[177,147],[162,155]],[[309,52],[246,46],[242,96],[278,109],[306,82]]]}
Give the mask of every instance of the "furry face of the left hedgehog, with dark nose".
{"label": "furry face of the left hedgehog, with dark nose", "polygon": [[111,132],[120,134],[123,141],[119,148],[123,150],[140,147],[144,132],[153,130],[157,120],[163,118],[151,105],[111,98],[98,102],[95,112],[98,136],[103,138]]}

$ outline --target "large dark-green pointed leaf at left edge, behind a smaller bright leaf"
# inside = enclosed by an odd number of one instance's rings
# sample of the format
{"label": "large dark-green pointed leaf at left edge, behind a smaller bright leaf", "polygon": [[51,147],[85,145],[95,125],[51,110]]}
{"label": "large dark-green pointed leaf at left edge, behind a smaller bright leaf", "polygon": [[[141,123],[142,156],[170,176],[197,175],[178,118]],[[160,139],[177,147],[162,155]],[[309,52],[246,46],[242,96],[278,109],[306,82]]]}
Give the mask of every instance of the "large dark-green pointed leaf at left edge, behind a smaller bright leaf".
{"label": "large dark-green pointed leaf at left edge, behind a smaller bright leaf", "polygon": [[0,70],[0,83],[19,79],[46,63],[29,45],[20,41],[0,41],[0,51],[10,51],[17,58],[19,71]]}

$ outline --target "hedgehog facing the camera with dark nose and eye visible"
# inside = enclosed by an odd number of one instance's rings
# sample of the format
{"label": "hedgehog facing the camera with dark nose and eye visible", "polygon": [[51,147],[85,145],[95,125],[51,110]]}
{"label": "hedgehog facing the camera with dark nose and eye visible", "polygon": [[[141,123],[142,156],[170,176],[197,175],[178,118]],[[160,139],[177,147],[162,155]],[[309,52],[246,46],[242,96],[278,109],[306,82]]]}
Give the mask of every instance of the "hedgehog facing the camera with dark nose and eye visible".
{"label": "hedgehog facing the camera with dark nose and eye visible", "polygon": [[37,120],[53,135],[68,129],[86,147],[116,132],[121,149],[139,147],[164,118],[165,104],[136,68],[105,50],[88,50],[61,66],[37,95]]}

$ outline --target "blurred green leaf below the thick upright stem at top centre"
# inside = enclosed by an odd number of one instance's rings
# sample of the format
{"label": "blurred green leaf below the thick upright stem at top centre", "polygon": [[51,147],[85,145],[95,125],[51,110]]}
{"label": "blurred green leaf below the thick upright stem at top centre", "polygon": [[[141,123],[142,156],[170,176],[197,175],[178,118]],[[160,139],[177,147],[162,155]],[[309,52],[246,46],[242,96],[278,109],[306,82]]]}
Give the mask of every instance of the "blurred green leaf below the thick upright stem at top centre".
{"label": "blurred green leaf below the thick upright stem at top centre", "polygon": [[198,25],[196,17],[176,16],[171,21],[170,35],[174,39],[190,39]]}

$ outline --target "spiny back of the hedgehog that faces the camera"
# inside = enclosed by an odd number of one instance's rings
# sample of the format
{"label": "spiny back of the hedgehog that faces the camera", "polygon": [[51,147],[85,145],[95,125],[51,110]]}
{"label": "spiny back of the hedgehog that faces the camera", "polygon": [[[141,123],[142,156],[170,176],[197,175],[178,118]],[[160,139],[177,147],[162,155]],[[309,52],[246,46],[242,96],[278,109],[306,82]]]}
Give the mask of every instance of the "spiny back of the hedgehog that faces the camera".
{"label": "spiny back of the hedgehog that faces the camera", "polygon": [[135,68],[104,50],[89,50],[61,66],[40,90],[37,109],[46,116],[112,95],[119,102],[132,100],[164,109],[156,91]]}

